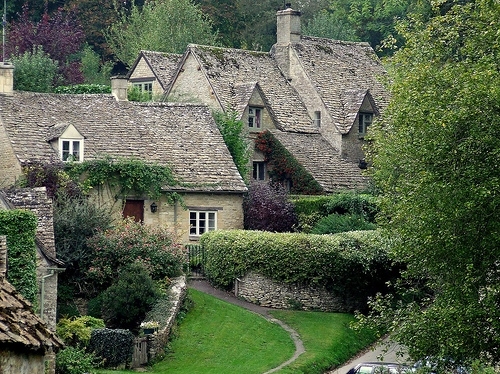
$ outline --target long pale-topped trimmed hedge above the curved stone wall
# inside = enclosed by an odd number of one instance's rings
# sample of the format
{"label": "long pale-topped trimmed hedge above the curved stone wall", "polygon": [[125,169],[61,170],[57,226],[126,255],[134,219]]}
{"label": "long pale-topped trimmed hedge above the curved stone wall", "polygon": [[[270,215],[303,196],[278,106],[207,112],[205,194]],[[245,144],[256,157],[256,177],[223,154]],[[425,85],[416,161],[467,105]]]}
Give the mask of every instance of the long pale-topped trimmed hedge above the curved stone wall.
{"label": "long pale-topped trimmed hedge above the curved stone wall", "polygon": [[249,271],[278,282],[323,286],[337,296],[362,298],[385,290],[400,266],[378,231],[334,235],[212,231],[202,235],[205,271],[214,285],[230,288]]}

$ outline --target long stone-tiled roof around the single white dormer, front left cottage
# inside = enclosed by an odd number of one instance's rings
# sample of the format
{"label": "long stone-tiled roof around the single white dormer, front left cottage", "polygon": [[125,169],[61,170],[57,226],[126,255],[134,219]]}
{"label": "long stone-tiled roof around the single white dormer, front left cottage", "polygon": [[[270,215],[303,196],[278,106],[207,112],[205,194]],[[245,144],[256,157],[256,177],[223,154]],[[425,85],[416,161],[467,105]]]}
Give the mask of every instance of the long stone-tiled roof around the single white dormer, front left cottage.
{"label": "long stone-tiled roof around the single white dormer, front left cottage", "polygon": [[15,92],[0,97],[0,117],[21,162],[57,159],[53,128],[74,124],[85,159],[134,157],[170,165],[182,190],[242,192],[246,186],[209,109],[177,103],[117,102],[111,95]]}

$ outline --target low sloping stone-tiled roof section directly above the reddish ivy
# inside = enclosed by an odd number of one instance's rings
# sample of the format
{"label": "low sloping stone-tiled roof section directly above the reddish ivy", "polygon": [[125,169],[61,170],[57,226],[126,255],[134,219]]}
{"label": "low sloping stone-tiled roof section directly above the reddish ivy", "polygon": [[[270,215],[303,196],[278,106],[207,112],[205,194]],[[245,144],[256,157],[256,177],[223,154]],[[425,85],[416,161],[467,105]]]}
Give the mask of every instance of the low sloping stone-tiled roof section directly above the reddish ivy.
{"label": "low sloping stone-tiled roof section directly above the reddish ivy", "polygon": [[272,131],[280,143],[311,173],[325,192],[362,189],[368,178],[357,163],[339,157],[330,143],[319,134]]}

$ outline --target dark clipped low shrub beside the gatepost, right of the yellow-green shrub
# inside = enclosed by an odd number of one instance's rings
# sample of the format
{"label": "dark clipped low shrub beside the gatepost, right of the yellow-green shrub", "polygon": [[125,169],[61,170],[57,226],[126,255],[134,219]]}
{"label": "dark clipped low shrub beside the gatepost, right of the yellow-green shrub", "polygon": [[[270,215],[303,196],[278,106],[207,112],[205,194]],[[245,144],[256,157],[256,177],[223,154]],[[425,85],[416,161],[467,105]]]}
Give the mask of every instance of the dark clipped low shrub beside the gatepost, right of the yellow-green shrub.
{"label": "dark clipped low shrub beside the gatepost, right of the yellow-green shrub", "polygon": [[127,366],[134,351],[134,335],[129,330],[93,330],[87,351],[99,357],[104,367]]}

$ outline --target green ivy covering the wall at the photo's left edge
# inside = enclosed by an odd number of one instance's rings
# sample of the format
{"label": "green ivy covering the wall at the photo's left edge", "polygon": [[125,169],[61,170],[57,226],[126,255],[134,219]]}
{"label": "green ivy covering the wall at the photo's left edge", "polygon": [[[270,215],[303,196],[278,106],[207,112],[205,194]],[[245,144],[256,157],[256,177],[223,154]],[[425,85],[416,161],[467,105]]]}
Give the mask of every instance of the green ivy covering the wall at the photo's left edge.
{"label": "green ivy covering the wall at the photo's left edge", "polygon": [[0,210],[0,235],[7,236],[7,280],[36,308],[37,218],[27,210]]}

